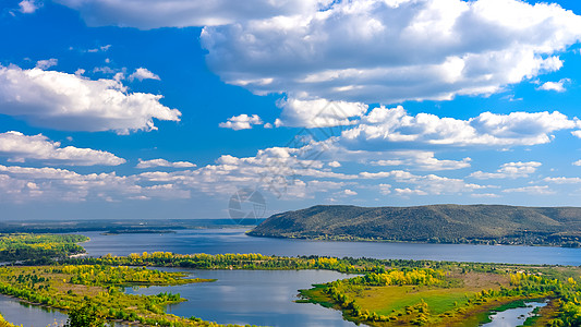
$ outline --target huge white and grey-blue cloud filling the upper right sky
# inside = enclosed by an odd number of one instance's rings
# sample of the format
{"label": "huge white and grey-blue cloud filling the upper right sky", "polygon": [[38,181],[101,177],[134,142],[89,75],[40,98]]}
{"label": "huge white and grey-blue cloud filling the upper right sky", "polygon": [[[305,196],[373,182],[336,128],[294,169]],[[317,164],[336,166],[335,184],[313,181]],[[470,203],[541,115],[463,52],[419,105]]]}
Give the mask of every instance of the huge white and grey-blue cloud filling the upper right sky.
{"label": "huge white and grey-blue cloud filling the upper right sky", "polygon": [[519,0],[337,1],[205,27],[208,65],[255,94],[394,104],[489,95],[559,70],[581,17]]}

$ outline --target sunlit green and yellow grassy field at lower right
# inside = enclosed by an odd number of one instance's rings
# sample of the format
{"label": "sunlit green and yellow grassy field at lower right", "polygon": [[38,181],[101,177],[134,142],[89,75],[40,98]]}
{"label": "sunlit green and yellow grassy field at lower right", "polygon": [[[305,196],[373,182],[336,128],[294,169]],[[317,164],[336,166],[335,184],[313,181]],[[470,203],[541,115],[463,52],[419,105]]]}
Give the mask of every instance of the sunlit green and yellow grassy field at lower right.
{"label": "sunlit green and yellow grassy field at lower right", "polygon": [[[315,286],[302,290],[301,294],[305,302],[341,310],[347,319],[370,326],[479,326],[492,311],[523,305],[523,300],[548,299],[549,304],[538,310],[541,317],[530,319],[526,326],[556,324],[559,296],[567,292],[579,294],[577,281],[570,276],[579,280],[580,268],[524,268],[535,275],[520,270],[462,274],[452,269],[431,284],[396,281],[396,284],[379,286],[350,279]],[[558,326],[579,326],[570,320]]]}

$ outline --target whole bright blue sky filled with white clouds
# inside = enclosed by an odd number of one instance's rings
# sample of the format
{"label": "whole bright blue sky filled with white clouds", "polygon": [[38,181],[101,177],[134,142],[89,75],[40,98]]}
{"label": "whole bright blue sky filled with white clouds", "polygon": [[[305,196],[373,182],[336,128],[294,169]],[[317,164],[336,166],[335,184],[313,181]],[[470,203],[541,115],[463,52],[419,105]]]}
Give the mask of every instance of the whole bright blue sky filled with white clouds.
{"label": "whole bright blue sky filled with white clouds", "polygon": [[581,206],[579,1],[2,0],[0,35],[1,220]]}

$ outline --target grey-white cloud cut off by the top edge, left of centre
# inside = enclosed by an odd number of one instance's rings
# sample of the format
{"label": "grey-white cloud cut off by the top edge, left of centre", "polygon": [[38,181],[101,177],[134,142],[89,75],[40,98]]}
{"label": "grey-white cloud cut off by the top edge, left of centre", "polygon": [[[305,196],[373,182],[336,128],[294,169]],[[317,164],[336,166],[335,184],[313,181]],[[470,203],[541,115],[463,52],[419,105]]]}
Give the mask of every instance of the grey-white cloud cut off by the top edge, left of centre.
{"label": "grey-white cloud cut off by the top edge, left of centre", "polygon": [[55,0],[76,9],[89,26],[117,25],[142,29],[223,25],[324,8],[330,0]]}

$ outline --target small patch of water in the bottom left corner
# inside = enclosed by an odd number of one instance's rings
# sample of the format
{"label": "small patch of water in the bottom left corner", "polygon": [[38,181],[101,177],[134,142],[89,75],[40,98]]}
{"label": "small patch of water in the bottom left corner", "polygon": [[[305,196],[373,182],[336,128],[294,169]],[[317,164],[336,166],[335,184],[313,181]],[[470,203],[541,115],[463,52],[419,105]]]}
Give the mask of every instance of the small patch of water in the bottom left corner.
{"label": "small patch of water in the bottom left corner", "polygon": [[56,310],[4,295],[0,295],[0,313],[8,322],[23,327],[62,326],[66,322],[66,315]]}

